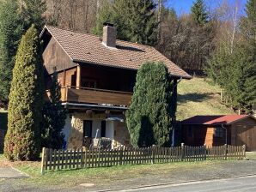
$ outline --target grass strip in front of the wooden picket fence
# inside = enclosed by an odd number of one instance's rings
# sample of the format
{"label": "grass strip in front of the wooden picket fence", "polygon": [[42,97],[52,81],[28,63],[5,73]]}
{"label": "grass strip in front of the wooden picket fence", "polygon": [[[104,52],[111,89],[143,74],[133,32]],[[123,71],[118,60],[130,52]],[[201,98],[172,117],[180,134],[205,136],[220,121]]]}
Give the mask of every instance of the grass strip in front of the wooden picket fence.
{"label": "grass strip in front of the wooden picket fence", "polygon": [[21,183],[29,183],[36,186],[54,185],[73,187],[81,183],[94,183],[102,185],[106,183],[118,183],[121,180],[144,177],[145,175],[159,176],[162,174],[178,174],[180,169],[191,171],[193,169],[209,169],[216,166],[218,161],[204,162],[180,162],[155,165],[119,165],[113,167],[88,168],[70,171],[46,171],[40,174],[40,165],[16,165],[15,168],[27,173],[30,177],[20,180]]}

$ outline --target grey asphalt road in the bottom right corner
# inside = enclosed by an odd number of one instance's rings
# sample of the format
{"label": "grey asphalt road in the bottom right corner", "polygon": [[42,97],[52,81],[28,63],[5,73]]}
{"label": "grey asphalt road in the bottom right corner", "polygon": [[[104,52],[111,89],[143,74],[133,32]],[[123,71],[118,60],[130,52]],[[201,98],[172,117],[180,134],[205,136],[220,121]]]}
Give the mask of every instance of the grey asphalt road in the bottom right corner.
{"label": "grey asphalt road in the bottom right corner", "polygon": [[145,192],[207,192],[207,191],[232,191],[232,192],[241,192],[241,191],[256,191],[256,176],[248,177],[235,177],[229,179],[217,179],[211,181],[201,181],[201,182],[189,182],[189,183],[177,183],[169,185],[161,185],[154,187],[146,187],[140,189],[126,189],[120,191],[145,191]]}

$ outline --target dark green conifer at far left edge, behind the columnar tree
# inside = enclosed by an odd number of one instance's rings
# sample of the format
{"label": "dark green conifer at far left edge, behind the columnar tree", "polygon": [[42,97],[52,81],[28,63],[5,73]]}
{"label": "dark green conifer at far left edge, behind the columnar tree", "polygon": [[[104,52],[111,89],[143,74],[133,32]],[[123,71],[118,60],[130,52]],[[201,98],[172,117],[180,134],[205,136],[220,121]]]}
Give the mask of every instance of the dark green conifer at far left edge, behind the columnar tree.
{"label": "dark green conifer at far left edge, behind the columnar tree", "polygon": [[15,54],[23,33],[23,21],[15,0],[0,3],[0,100],[8,102]]}

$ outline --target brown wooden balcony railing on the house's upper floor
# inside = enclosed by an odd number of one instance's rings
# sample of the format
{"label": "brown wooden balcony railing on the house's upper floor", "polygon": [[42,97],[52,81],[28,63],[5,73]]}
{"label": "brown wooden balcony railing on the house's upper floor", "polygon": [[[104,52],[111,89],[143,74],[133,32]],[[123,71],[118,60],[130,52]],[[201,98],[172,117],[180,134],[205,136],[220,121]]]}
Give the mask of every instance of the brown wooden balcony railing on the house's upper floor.
{"label": "brown wooden balcony railing on the house's upper floor", "polygon": [[129,106],[132,93],[88,87],[62,87],[63,102]]}

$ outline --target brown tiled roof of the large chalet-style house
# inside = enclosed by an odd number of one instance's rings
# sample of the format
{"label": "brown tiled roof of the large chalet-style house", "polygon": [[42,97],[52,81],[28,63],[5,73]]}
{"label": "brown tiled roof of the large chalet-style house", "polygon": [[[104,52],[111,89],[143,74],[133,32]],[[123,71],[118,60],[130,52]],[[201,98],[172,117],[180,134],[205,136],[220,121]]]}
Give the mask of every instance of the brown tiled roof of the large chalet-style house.
{"label": "brown tiled roof of the large chalet-style house", "polygon": [[102,39],[88,33],[78,33],[58,27],[46,26],[40,37],[48,31],[73,62],[93,63],[123,69],[138,69],[146,61],[163,62],[171,75],[191,79],[183,69],[171,62],[154,47],[118,40],[116,48],[102,45]]}

